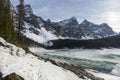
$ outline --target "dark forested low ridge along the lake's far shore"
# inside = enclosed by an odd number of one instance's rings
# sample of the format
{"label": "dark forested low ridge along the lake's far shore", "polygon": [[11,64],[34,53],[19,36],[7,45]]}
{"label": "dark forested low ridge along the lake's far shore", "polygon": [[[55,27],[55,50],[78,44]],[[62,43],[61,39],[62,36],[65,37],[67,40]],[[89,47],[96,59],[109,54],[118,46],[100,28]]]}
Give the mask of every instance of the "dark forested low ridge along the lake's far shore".
{"label": "dark forested low ridge along the lake's far shore", "polygon": [[51,40],[53,46],[48,49],[62,49],[62,48],[87,48],[87,49],[101,49],[101,48],[120,48],[120,35],[91,40],[74,40],[74,39],[59,39]]}

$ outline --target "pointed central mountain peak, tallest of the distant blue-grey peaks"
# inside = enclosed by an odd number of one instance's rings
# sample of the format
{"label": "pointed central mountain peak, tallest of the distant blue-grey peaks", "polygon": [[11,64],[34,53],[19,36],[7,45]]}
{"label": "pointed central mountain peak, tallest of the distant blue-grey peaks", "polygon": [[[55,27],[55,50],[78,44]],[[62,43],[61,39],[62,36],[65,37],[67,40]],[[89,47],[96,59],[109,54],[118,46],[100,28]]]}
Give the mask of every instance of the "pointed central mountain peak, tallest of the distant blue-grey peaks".
{"label": "pointed central mountain peak, tallest of the distant blue-grey peaks", "polygon": [[71,17],[70,19],[66,19],[58,22],[61,27],[61,36],[62,37],[70,37],[70,38],[81,38],[81,33],[78,33],[78,21],[75,17]]}

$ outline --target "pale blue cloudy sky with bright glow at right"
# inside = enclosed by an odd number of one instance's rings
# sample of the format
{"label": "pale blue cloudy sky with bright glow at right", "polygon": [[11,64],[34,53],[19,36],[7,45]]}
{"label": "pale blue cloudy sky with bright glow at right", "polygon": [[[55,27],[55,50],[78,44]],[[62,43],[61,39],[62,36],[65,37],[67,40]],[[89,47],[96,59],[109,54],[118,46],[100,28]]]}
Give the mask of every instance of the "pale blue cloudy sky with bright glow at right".
{"label": "pale blue cloudy sky with bright glow at right", "polygon": [[[11,0],[14,5],[18,0]],[[84,19],[96,24],[108,23],[120,32],[120,0],[25,0],[34,13],[44,19],[60,21],[75,16],[79,23]]]}

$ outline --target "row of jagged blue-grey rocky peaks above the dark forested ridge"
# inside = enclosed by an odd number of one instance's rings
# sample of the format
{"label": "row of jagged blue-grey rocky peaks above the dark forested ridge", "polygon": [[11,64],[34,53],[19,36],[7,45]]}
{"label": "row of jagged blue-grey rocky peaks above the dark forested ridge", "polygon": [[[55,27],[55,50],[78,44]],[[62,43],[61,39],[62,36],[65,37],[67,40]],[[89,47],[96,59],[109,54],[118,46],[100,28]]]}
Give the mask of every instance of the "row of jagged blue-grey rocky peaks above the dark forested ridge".
{"label": "row of jagged blue-grey rocky peaks above the dark forested ridge", "polygon": [[47,30],[53,30],[57,33],[55,33],[56,35],[68,38],[98,39],[115,34],[112,28],[106,23],[98,25],[84,20],[82,23],[79,24],[75,17],[56,22],[54,23],[56,24],[56,26],[53,25],[52,22],[49,24],[49,26],[47,25],[45,27],[50,28]]}

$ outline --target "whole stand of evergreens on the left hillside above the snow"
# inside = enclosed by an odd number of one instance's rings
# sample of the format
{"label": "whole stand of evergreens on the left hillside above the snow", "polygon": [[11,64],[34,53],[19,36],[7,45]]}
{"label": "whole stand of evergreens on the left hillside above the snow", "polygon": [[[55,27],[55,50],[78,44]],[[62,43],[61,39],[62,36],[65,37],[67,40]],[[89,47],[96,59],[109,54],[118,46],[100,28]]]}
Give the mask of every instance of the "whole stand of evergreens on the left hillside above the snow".
{"label": "whole stand of evergreens on the left hillside above the snow", "polygon": [[[10,43],[13,43],[19,47],[28,51],[28,46],[40,45],[39,43],[30,40],[21,34],[21,30],[24,29],[24,9],[23,0],[20,0],[20,4],[17,6],[17,13],[14,10],[10,0],[0,0],[0,36]],[[17,15],[17,24],[15,25],[15,15]],[[16,28],[17,27],[17,28]]]}

